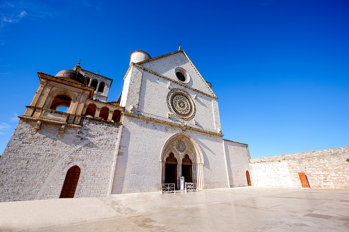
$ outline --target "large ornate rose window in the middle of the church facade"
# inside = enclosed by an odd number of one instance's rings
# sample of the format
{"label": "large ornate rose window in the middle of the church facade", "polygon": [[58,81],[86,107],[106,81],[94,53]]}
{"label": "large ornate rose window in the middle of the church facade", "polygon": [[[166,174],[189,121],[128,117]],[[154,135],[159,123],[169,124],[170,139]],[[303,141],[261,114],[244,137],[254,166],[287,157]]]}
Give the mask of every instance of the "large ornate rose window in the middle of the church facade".
{"label": "large ornate rose window in the middle of the church facade", "polygon": [[196,113],[196,108],[189,94],[174,88],[167,94],[167,106],[174,113],[176,118],[192,120]]}

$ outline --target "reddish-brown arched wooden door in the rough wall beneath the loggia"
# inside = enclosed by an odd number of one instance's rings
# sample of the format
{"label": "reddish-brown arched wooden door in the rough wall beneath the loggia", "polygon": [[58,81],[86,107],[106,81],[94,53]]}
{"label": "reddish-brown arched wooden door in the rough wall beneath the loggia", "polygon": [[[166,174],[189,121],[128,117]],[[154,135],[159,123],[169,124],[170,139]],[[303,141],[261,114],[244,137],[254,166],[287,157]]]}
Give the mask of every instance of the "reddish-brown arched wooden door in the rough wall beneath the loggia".
{"label": "reddish-brown arched wooden door in the rough wall beneath the loggia", "polygon": [[73,166],[69,168],[67,175],[65,176],[62,191],[60,192],[60,198],[73,198],[77,186],[77,181],[80,177],[80,168]]}

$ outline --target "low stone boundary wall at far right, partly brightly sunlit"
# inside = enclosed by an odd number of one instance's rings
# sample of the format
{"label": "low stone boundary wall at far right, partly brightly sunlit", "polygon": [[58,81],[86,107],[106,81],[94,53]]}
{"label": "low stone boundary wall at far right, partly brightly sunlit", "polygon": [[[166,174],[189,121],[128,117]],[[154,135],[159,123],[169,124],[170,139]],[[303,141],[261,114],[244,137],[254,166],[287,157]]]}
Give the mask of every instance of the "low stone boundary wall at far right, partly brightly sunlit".
{"label": "low stone boundary wall at far right, partly brightly sunlit", "polygon": [[304,172],[311,188],[349,189],[349,147],[250,159],[252,185],[302,188]]}

